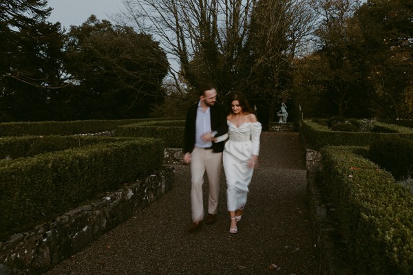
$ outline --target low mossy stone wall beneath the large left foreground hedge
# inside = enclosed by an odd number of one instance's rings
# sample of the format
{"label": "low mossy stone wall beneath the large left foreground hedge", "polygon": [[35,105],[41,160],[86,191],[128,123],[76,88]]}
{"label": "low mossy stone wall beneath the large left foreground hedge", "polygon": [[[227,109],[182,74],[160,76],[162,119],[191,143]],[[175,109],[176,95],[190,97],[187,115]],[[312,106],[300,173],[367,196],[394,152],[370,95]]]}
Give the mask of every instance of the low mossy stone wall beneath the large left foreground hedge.
{"label": "low mossy stone wall beneath the large left foreground hedge", "polygon": [[79,206],[28,232],[0,242],[0,274],[41,274],[80,252],[103,233],[173,188],[174,168],[162,168],[134,184]]}

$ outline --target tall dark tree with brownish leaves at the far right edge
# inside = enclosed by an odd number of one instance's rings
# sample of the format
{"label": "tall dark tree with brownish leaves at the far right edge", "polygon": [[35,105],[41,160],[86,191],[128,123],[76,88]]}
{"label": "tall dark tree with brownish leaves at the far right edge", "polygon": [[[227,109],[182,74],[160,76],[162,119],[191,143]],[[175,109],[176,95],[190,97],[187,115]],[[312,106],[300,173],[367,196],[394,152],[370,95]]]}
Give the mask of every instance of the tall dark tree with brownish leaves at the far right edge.
{"label": "tall dark tree with brownish leaves at the far right edge", "polygon": [[[412,1],[364,1],[354,14],[363,35],[362,58],[369,71],[370,109],[379,118],[409,118],[413,66]],[[379,89],[377,89],[379,87]],[[385,91],[385,92],[383,92]]]}

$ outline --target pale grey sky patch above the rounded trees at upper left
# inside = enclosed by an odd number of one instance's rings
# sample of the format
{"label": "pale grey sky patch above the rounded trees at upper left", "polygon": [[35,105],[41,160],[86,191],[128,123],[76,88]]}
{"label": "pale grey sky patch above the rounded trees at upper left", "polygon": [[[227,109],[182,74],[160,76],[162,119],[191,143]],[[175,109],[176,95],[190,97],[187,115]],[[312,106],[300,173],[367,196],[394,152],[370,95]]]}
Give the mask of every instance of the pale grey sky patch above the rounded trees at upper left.
{"label": "pale grey sky patch above the rounded trees at upper left", "polygon": [[92,14],[99,20],[108,19],[120,12],[123,0],[47,0],[53,8],[47,19],[52,23],[59,21],[67,30],[70,25],[82,25]]}

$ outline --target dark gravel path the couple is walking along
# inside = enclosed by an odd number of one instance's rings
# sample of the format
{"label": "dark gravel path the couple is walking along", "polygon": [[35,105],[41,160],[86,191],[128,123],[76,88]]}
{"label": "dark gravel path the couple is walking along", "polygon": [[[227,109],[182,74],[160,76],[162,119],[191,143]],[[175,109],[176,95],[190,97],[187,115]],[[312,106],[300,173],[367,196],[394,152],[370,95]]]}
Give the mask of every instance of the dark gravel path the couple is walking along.
{"label": "dark gravel path the couple is walking along", "polygon": [[[173,190],[45,274],[317,274],[298,134],[263,132],[261,142],[237,234],[224,173],[217,222],[186,232],[190,170],[178,164]],[[207,194],[206,182],[205,209]]]}

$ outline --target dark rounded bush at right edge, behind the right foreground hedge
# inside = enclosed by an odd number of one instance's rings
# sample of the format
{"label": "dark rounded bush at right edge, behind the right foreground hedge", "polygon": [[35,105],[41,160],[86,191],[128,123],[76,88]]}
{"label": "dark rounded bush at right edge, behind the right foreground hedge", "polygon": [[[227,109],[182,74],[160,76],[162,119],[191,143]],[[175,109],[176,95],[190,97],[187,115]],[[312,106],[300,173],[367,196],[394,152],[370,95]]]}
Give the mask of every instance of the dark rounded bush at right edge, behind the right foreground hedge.
{"label": "dark rounded bush at right edge, behind the right foreground hedge", "polygon": [[397,180],[413,176],[413,141],[385,137],[370,144],[370,159],[392,173]]}

